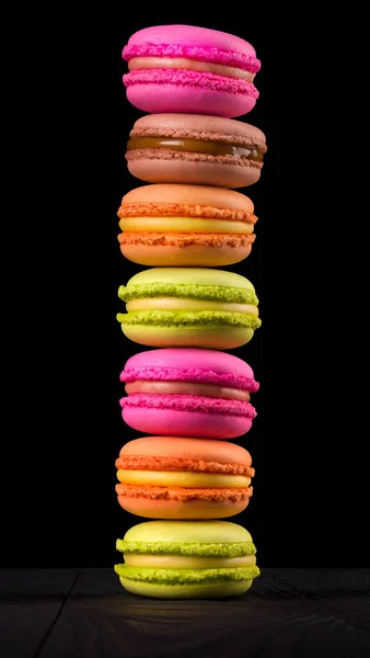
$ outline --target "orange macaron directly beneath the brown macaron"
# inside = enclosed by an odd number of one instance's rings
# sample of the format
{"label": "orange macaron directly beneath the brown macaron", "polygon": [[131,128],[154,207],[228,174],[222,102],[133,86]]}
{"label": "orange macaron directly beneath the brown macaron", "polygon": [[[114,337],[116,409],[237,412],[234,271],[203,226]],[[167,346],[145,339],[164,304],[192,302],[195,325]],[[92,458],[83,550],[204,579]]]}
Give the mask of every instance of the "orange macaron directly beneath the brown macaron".
{"label": "orange macaron directly beneath the brown macaron", "polygon": [[120,251],[141,265],[231,265],[255,240],[252,201],[224,188],[142,185],[123,197],[117,214]]}

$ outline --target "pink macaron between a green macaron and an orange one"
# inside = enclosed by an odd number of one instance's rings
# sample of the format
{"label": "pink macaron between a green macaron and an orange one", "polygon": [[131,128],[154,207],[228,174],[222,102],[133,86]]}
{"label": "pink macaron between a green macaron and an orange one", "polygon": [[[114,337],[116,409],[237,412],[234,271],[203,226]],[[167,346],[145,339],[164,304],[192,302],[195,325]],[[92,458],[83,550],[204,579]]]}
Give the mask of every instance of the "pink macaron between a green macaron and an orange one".
{"label": "pink macaron between a green macaron and an orange one", "polygon": [[258,390],[251,366],[224,352],[177,348],[131,356],[120,381],[122,415],[148,434],[234,439],[250,431]]}

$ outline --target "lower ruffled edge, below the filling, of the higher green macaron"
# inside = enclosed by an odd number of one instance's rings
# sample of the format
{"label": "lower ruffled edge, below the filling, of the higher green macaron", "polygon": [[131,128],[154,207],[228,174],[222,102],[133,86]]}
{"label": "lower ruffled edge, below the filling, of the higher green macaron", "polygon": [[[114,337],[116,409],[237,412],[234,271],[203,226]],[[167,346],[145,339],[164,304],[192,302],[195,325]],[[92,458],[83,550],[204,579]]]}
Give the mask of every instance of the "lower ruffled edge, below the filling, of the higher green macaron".
{"label": "lower ruffled edge, below the filling, of the higher green macaron", "polygon": [[234,327],[261,327],[261,319],[246,313],[226,313],[221,310],[135,310],[118,313],[118,322],[123,325],[154,325],[162,327],[215,327],[232,325]]}

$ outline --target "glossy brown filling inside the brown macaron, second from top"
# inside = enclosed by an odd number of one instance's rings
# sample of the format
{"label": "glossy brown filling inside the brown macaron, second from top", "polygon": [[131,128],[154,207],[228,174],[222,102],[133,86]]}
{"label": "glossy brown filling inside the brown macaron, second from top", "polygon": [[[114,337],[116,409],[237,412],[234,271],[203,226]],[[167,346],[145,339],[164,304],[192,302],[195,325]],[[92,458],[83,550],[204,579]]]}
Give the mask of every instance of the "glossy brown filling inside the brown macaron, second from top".
{"label": "glossy brown filling inside the brown macaron, second from top", "polygon": [[173,139],[167,137],[131,137],[127,143],[127,150],[144,148],[165,148],[192,154],[207,154],[211,156],[232,156],[262,162],[263,154],[257,147],[234,146],[222,141],[206,141],[204,139]]}

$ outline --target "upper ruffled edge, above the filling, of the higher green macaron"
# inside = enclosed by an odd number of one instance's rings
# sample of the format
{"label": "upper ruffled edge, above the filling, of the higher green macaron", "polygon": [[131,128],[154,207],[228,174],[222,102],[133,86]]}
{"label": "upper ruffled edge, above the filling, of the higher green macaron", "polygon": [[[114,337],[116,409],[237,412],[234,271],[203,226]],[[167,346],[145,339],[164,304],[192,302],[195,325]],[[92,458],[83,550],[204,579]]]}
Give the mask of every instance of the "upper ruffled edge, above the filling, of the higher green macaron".
{"label": "upper ruffled edge, above the filling, of the higher green macaron", "polygon": [[141,285],[119,286],[118,297],[123,302],[148,297],[182,297],[183,299],[215,299],[258,306],[254,291],[228,285],[197,285],[195,283],[142,283]]}

